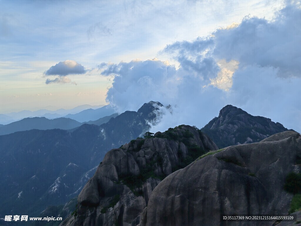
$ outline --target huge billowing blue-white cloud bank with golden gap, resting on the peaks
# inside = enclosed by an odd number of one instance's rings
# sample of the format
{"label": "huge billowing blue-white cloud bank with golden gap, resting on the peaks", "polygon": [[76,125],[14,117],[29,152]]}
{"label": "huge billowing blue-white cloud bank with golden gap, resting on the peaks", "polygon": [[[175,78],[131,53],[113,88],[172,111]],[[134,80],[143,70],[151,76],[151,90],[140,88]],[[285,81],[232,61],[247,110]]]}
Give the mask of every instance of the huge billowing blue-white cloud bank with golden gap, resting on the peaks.
{"label": "huge billowing blue-white cloud bank with golden gap, resting on the peaks", "polygon": [[245,17],[192,42],[162,51],[180,67],[160,60],[101,64],[113,76],[107,101],[119,112],[144,102],[173,106],[152,131],[179,124],[203,127],[232,104],[301,132],[301,10],[289,4],[273,21]]}

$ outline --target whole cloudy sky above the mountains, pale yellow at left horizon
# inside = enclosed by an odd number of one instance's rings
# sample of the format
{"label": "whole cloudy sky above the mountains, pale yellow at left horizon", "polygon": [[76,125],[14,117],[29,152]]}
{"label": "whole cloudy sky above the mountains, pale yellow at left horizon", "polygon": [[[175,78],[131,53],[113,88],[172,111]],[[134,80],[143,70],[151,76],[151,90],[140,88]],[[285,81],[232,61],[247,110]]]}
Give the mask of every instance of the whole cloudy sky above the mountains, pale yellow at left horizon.
{"label": "whole cloudy sky above the mountains, pale yellow at left horizon", "polygon": [[300,5],[0,0],[0,114],[153,100],[162,131],[232,104],[300,132]]}

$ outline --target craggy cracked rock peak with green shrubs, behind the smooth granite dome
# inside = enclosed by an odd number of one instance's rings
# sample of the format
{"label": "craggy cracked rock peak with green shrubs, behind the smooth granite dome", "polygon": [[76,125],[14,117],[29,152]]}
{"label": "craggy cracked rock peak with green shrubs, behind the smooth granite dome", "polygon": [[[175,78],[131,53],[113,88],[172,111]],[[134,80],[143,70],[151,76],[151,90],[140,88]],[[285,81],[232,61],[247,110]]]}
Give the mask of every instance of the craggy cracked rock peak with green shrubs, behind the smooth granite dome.
{"label": "craggy cracked rock peak with green shrubs, behind the smooth granite dome", "polygon": [[61,225],[137,225],[163,178],[217,149],[208,136],[186,125],[150,137],[107,152],[79,194],[76,214]]}

